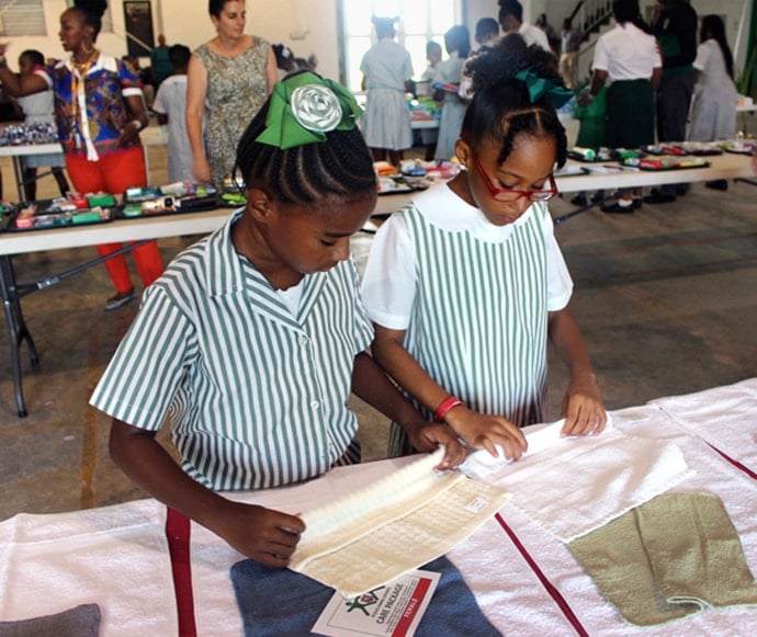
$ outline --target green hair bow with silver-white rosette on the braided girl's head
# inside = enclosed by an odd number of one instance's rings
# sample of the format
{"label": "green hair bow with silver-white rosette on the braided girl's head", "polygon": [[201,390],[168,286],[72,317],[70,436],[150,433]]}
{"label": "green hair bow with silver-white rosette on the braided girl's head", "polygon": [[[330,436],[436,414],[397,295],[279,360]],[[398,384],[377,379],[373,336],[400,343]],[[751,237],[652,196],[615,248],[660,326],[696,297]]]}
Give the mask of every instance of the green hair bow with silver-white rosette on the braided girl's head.
{"label": "green hair bow with silver-white rosette on the braided girl's head", "polygon": [[282,150],[326,140],[329,130],[352,130],[362,113],[354,95],[340,83],[313,72],[276,82],[256,141]]}

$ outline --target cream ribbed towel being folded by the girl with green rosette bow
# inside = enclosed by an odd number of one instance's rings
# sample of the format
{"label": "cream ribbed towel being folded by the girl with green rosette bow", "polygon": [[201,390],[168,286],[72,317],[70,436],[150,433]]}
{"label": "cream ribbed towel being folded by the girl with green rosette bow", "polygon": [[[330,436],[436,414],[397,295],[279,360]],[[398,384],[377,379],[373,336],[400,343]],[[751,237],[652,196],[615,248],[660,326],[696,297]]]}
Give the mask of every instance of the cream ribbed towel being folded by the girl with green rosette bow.
{"label": "cream ribbed towel being folded by the girl with green rosette bow", "polygon": [[433,471],[444,450],[302,515],[290,568],[346,598],[418,568],[473,534],[509,499],[460,471]]}

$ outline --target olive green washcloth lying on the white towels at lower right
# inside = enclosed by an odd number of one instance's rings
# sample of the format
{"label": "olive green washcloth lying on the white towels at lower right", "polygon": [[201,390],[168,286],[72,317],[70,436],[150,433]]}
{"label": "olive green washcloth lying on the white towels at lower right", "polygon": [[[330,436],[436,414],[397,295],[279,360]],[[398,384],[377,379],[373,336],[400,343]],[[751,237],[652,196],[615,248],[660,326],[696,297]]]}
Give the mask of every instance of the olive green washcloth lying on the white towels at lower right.
{"label": "olive green washcloth lying on the white towels at lower right", "polygon": [[664,493],[568,548],[621,616],[637,626],[709,606],[757,605],[738,535],[713,493]]}

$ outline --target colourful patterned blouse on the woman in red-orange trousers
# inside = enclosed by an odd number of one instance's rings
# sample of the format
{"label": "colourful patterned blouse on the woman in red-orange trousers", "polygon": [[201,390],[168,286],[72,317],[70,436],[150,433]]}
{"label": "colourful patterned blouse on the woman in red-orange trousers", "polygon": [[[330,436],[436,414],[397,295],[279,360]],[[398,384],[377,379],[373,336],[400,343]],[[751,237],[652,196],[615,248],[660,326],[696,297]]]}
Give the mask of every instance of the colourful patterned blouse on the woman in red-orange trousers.
{"label": "colourful patterned blouse on the woman in red-orange trousers", "polygon": [[83,82],[71,58],[47,67],[46,72],[55,91],[55,120],[64,152],[98,161],[103,155],[139,146],[138,137],[117,146],[121,130],[134,118],[125,98],[142,95],[139,77],[129,65],[101,53]]}

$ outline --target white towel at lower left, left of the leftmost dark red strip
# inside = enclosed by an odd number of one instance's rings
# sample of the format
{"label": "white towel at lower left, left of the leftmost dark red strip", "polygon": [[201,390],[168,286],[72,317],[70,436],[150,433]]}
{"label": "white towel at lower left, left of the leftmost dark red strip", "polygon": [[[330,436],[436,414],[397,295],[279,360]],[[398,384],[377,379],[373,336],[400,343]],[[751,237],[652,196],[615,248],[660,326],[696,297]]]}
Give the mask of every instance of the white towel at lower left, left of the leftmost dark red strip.
{"label": "white towel at lower left, left of the leftmost dark red strip", "polygon": [[142,500],[1,523],[0,617],[97,603],[103,637],[176,635],[165,519],[165,505]]}

